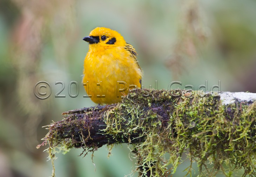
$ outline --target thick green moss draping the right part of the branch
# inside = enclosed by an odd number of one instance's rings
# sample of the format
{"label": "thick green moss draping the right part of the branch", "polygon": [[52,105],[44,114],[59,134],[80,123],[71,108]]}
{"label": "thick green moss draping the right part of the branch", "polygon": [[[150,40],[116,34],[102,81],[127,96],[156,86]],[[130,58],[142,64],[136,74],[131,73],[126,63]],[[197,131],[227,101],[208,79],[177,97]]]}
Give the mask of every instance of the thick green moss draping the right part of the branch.
{"label": "thick green moss draping the right part of the branch", "polygon": [[184,90],[136,90],[108,114],[105,132],[114,138],[140,132],[144,141],[134,144],[132,151],[136,150],[138,170],[145,174],[166,175],[169,165],[174,173],[189,149],[187,157],[197,162],[202,176],[215,176],[220,170],[231,176],[237,169],[255,176],[255,103],[229,107],[230,113],[216,94],[200,97],[193,91],[189,97]]}

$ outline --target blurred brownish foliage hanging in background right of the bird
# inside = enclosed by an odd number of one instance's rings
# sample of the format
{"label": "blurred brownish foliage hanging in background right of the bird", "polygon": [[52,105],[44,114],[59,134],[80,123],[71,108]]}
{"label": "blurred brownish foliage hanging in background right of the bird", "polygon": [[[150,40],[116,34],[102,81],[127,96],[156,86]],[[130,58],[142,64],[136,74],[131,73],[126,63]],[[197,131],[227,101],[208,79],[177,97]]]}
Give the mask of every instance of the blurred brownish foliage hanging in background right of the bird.
{"label": "blurred brownish foliage hanging in background right of the bird", "polygon": [[178,22],[178,38],[172,49],[173,55],[166,63],[174,79],[198,62],[200,49],[207,45],[209,29],[206,21],[203,21],[205,16],[198,1],[183,1],[179,13],[181,21]]}

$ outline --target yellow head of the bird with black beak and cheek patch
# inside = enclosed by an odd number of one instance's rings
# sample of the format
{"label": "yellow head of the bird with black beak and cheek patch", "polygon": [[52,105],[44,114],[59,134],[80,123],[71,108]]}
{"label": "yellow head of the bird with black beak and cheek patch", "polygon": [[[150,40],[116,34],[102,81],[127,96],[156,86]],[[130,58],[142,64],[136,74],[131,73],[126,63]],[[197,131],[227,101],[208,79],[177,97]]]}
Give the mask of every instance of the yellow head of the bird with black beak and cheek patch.
{"label": "yellow head of the bird with black beak and cheek patch", "polygon": [[83,38],[84,41],[88,42],[90,47],[124,47],[126,45],[125,40],[115,30],[97,27],[92,30],[89,36]]}

